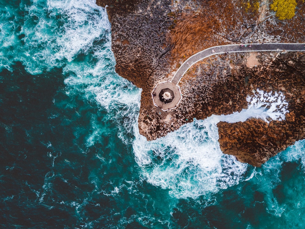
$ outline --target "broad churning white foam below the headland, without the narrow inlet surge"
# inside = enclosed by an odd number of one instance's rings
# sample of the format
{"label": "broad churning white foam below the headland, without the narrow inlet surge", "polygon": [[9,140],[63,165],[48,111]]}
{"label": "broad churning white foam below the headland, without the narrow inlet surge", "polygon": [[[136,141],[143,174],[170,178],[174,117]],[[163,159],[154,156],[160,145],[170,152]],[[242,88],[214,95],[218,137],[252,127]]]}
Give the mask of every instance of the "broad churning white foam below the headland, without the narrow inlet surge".
{"label": "broad churning white foam below the headland, without the narrow inlet surge", "polygon": [[216,124],[213,117],[195,120],[151,142],[136,136],[133,149],[146,180],[177,198],[238,184],[247,165],[221,152]]}

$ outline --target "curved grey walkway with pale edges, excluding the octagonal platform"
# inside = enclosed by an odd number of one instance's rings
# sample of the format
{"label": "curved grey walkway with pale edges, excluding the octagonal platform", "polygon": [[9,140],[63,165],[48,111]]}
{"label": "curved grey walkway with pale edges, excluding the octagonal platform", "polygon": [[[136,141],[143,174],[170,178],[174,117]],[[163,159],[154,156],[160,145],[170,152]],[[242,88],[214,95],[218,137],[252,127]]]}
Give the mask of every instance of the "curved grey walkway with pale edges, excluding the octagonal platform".
{"label": "curved grey walkway with pale edges, excluding the octagonal platform", "polygon": [[[242,46],[241,46],[242,45]],[[270,52],[270,51],[305,51],[305,43],[253,43],[253,44],[236,44],[236,45],[219,45],[204,49],[193,56],[189,57],[179,67],[171,82],[178,84],[186,71],[193,64],[209,56],[222,53],[242,53],[242,52]]]}

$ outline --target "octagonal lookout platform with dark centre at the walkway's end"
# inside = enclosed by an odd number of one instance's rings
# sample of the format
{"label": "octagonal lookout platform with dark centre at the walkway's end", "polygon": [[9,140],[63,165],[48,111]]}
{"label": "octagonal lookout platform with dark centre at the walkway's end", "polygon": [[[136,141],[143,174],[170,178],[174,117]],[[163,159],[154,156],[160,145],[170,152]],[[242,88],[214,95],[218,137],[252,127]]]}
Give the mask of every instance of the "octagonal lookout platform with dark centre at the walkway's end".
{"label": "octagonal lookout platform with dark centre at the walkway's end", "polygon": [[158,83],[152,91],[153,103],[162,111],[176,108],[181,99],[180,87],[170,81]]}

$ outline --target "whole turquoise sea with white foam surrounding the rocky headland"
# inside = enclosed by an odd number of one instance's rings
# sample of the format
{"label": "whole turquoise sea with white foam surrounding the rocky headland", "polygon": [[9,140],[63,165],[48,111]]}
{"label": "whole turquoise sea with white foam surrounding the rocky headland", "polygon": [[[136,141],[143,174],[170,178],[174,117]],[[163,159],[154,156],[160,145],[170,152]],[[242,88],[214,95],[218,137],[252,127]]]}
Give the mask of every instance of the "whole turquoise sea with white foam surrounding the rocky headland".
{"label": "whole turquoise sea with white foam surrounding the rocky headland", "polygon": [[147,142],[94,1],[7,1],[0,23],[1,228],[304,228],[305,141],[261,168],[217,117]]}

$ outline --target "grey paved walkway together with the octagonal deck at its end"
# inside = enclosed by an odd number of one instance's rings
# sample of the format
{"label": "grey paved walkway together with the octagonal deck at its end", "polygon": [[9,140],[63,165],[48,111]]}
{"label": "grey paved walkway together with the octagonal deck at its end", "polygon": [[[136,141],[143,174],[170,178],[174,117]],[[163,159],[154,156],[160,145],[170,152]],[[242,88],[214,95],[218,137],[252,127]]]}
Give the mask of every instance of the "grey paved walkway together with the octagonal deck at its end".
{"label": "grey paved walkway together with the octagonal deck at its end", "polygon": [[[193,56],[189,57],[185,62],[179,67],[177,72],[171,81],[161,82],[156,85],[152,91],[152,100],[156,107],[160,107],[162,111],[168,111],[177,107],[182,99],[182,94],[180,92],[180,87],[178,83],[180,82],[183,75],[188,71],[192,65],[206,57],[222,54],[222,53],[243,53],[243,52],[270,52],[270,51],[287,51],[287,52],[297,52],[305,51],[305,43],[254,43],[254,44],[236,44],[236,45],[219,45],[208,49],[204,49]],[[170,89],[173,91],[174,99],[171,102],[164,103],[162,100],[161,90]],[[161,93],[161,94],[160,94]]]}

